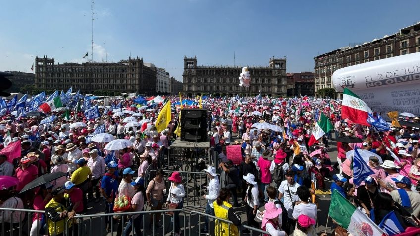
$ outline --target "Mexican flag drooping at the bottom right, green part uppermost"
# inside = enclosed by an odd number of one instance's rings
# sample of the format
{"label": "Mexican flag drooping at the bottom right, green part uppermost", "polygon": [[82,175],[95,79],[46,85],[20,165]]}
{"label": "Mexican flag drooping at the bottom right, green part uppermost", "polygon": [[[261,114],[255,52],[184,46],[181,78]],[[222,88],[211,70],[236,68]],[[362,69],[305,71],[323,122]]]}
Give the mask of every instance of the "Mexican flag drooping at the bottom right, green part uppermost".
{"label": "Mexican flag drooping at the bottom right, green part uppermost", "polygon": [[344,198],[337,190],[331,195],[329,216],[353,236],[386,236],[361,210]]}

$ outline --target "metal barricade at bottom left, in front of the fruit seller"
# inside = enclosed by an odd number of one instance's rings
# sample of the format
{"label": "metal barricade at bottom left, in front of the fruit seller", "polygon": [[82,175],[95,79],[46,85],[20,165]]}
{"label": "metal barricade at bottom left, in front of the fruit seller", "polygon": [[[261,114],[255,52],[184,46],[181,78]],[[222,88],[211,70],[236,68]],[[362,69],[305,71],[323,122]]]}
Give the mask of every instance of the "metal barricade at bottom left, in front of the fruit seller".
{"label": "metal barricade at bottom left, in front of the fruit seller", "polygon": [[[124,235],[124,229],[126,228],[126,223],[129,221],[129,219],[131,218],[133,224],[131,224],[131,235],[135,235],[135,224],[134,224],[134,215],[140,214],[140,216],[138,217],[142,217],[141,219],[141,231],[142,231],[142,236],[143,235],[148,235],[149,233],[152,233],[152,235],[166,235],[168,233],[170,233],[170,235],[175,236],[175,220],[173,220],[173,216],[169,216],[166,215],[165,213],[168,213],[170,211],[175,212],[179,212],[178,217],[183,217],[183,220],[180,221],[180,231],[182,231],[183,229],[185,229],[186,227],[186,214],[185,211],[183,209],[173,209],[173,210],[169,210],[169,209],[165,209],[165,210],[156,210],[156,211],[136,211],[136,212],[121,212],[121,213],[111,213],[111,214],[92,214],[92,215],[76,215],[75,218],[75,223],[78,225],[77,226],[77,233],[75,233],[75,231],[71,231],[69,228],[65,229],[66,235],[67,236],[73,236],[73,235],[78,235],[78,236],[91,236],[91,235],[105,235],[104,233],[106,233],[107,235],[119,235],[119,232],[121,232],[121,235]],[[156,229],[156,224],[155,224],[155,213],[163,213],[162,216],[162,224],[163,224],[163,229]],[[150,221],[150,218],[148,216],[150,216],[151,214],[153,214],[153,224],[152,224],[152,229],[149,229],[148,226],[149,224],[146,224],[146,222]],[[120,216],[119,220],[116,220],[114,218],[114,216]],[[175,216],[175,214],[174,214]],[[110,222],[110,232],[106,231],[105,229],[105,217],[110,217],[111,222]],[[170,218],[168,218],[170,217]],[[118,225],[116,225],[115,223],[118,222]],[[181,223],[182,222],[182,223]],[[67,223],[66,226],[68,226],[69,224]],[[172,232],[170,230],[172,226]],[[71,233],[69,233],[71,232]]]}

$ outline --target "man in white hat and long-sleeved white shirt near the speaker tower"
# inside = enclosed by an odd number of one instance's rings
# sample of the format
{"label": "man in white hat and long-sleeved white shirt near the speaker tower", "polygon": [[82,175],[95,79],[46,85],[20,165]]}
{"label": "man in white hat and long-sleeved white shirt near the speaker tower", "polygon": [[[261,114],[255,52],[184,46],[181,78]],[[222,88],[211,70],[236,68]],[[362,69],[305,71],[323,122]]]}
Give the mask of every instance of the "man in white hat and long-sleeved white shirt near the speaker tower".
{"label": "man in white hat and long-sleeved white shirt near the speaker tower", "polygon": [[[217,177],[216,168],[209,166],[207,170],[207,177],[210,179],[209,186],[207,186],[208,195],[203,195],[203,199],[207,199],[206,210],[204,213],[214,216],[214,205],[213,202],[220,194],[219,177]],[[209,218],[205,217],[204,229],[201,233],[209,233]]]}

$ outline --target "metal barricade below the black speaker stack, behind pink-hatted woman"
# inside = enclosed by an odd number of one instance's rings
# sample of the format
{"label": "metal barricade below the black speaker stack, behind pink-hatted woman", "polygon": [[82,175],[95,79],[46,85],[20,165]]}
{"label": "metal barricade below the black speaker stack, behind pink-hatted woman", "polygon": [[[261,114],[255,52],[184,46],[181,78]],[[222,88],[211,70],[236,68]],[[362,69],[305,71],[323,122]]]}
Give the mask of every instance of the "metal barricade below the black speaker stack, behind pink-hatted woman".
{"label": "metal barricade below the black speaker stack, behind pink-hatted woman", "polygon": [[[145,186],[156,176],[157,170],[150,170],[149,175],[146,175]],[[165,175],[163,181],[166,185],[167,191],[169,191],[171,182],[168,180],[170,175],[177,170],[164,170]],[[178,171],[181,176],[181,184],[185,189],[184,206],[193,207],[206,207],[207,200],[202,198],[202,195],[206,193],[202,186],[209,185],[209,179],[207,178],[206,172],[192,172],[192,171]],[[163,199],[166,201],[166,198]]]}

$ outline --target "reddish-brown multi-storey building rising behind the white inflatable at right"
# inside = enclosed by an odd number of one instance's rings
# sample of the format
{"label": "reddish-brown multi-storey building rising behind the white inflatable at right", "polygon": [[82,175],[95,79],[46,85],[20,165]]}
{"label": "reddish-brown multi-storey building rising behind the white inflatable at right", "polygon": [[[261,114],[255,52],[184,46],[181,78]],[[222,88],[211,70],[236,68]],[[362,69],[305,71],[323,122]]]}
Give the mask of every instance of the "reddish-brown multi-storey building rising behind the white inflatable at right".
{"label": "reddish-brown multi-storey building rising behind the white inflatable at right", "polygon": [[[334,71],[352,65],[420,51],[420,22],[400,29],[393,35],[374,39],[354,47],[342,47],[317,57],[315,60],[315,96],[323,88],[334,88]],[[338,94],[342,97],[342,93]]]}

